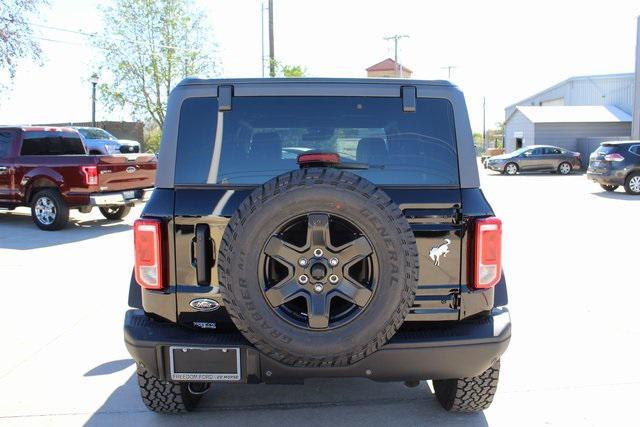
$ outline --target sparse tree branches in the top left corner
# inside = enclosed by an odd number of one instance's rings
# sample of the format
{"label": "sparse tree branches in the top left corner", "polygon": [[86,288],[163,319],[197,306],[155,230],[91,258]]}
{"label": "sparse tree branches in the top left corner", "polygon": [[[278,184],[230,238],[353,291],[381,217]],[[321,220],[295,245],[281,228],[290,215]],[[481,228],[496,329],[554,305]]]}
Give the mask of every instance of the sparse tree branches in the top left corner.
{"label": "sparse tree branches in the top left corner", "polygon": [[33,40],[28,18],[45,4],[46,0],[0,0],[0,71],[9,80],[16,75],[19,59],[40,60],[40,46]]}

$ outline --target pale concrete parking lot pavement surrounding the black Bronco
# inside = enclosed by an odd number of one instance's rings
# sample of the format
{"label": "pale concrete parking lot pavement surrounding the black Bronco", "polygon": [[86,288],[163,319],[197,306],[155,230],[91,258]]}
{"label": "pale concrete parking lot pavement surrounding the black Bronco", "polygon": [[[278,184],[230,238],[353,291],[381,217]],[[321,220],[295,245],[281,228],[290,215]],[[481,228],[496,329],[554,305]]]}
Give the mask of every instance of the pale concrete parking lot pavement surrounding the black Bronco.
{"label": "pale concrete parking lot pavement surrounding the black Bronco", "polygon": [[493,406],[443,411],[425,383],[218,385],[187,416],[148,412],[122,339],[131,223],[72,214],[38,230],[0,213],[0,423],[77,425],[637,425],[640,197],[584,175],[482,174],[504,222],[513,320]]}

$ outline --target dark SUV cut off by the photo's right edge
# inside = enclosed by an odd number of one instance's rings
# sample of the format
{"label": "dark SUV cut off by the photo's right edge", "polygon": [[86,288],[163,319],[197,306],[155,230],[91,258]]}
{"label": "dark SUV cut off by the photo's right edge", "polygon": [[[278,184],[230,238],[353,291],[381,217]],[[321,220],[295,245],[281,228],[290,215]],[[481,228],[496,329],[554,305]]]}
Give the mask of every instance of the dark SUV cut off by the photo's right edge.
{"label": "dark SUV cut off by the photo's right edge", "polygon": [[606,191],[640,195],[640,141],[608,141],[589,156],[587,179]]}

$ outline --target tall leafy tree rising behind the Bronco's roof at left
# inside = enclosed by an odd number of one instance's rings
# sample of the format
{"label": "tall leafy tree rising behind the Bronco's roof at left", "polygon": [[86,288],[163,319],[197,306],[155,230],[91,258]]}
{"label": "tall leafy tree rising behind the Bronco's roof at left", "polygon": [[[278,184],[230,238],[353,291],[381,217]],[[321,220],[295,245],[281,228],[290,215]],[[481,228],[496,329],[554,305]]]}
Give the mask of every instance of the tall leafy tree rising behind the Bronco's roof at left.
{"label": "tall leafy tree rising behind the Bronco's roof at left", "polygon": [[213,75],[215,44],[204,11],[193,0],[114,0],[103,9],[102,69],[112,77],[100,85],[107,108],[164,124],[167,98],[187,76]]}

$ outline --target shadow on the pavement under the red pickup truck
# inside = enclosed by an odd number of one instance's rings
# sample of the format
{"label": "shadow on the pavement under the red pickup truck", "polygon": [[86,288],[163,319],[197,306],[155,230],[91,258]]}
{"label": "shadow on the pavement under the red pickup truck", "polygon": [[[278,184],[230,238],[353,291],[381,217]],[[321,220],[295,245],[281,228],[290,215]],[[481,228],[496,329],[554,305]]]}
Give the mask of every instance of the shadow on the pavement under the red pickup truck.
{"label": "shadow on the pavement under the red pickup truck", "polygon": [[94,239],[130,229],[131,226],[122,221],[83,221],[70,218],[69,224],[62,230],[42,231],[36,227],[28,214],[0,211],[0,249],[37,249]]}

